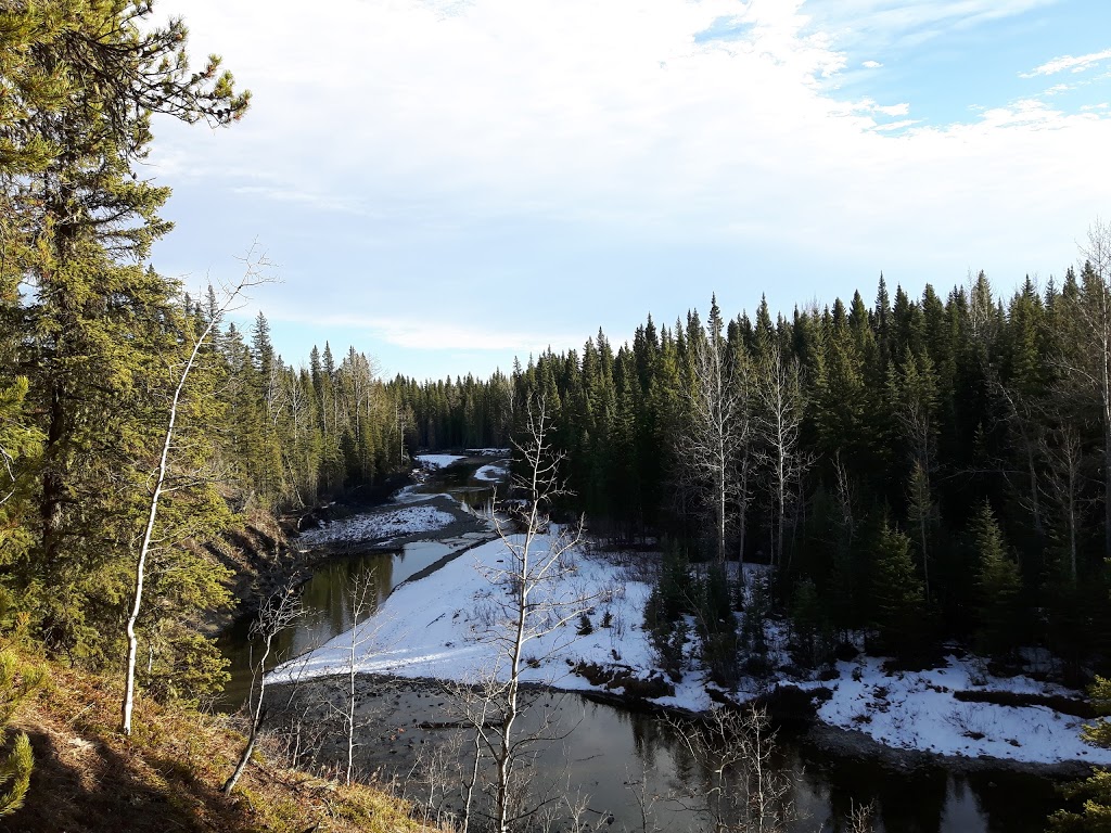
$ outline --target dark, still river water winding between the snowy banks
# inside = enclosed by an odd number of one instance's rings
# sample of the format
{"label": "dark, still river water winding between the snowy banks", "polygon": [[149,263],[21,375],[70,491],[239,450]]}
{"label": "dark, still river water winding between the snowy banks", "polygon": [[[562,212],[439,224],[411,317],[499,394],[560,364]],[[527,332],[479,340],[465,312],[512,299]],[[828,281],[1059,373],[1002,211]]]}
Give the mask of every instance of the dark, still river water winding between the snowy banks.
{"label": "dark, still river water winding between the snowy banks", "polygon": [[[468,470],[448,470],[447,476],[422,486],[430,492],[456,490],[479,504],[489,485],[469,482]],[[281,635],[283,656],[296,656],[349,630],[350,585],[356,574],[374,571],[377,592],[383,599],[392,588],[451,551],[441,542],[417,542],[392,553],[352,555],[320,566],[304,586],[303,604],[310,614]],[[221,639],[232,661],[233,679],[227,704],[246,697],[250,685],[249,623],[242,622]],[[394,777],[409,784],[407,793],[421,799],[421,773],[433,750],[466,746],[468,737],[444,727],[452,721],[451,697],[430,684],[397,684],[369,680],[360,695],[357,750],[361,772]],[[321,722],[327,710],[322,710]],[[524,716],[522,731],[539,721],[551,723],[559,740],[542,744],[530,767],[537,790],[547,784],[562,795],[582,796],[589,809],[583,821],[609,830],[644,830],[641,806],[650,805],[647,830],[698,831],[712,829],[703,812],[704,775],[669,721],[655,714],[597,703],[574,694],[539,694]],[[423,727],[422,727],[423,726]],[[346,739],[322,742],[324,759],[346,755]],[[872,802],[875,831],[884,833],[1033,833],[1060,806],[1055,784],[1047,777],[1007,771],[971,774],[944,767],[899,771],[874,761],[827,754],[799,736],[780,731],[775,737],[774,766],[790,783],[790,797],[799,819],[789,830],[849,830],[851,807]],[[442,786],[442,785],[441,785]],[[430,794],[437,803],[452,796]],[[609,820],[612,819],[611,823]],[[593,827],[591,827],[593,829]]]}

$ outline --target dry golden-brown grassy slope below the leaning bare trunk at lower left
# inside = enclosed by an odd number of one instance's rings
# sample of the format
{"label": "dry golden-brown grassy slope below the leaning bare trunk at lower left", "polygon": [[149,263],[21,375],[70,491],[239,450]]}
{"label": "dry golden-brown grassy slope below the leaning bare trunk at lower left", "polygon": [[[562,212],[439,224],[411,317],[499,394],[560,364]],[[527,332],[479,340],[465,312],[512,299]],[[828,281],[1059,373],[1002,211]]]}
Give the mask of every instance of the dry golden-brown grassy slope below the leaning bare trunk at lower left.
{"label": "dry golden-brown grassy slope below the leaning bare trunk at lower left", "polygon": [[373,787],[341,786],[257,756],[230,797],[220,789],[243,739],[220,716],[140,701],[134,733],[119,724],[120,686],[64,668],[24,704],[13,726],[26,731],[36,766],[26,805],[0,830],[336,831],[409,833],[426,827],[409,806]]}

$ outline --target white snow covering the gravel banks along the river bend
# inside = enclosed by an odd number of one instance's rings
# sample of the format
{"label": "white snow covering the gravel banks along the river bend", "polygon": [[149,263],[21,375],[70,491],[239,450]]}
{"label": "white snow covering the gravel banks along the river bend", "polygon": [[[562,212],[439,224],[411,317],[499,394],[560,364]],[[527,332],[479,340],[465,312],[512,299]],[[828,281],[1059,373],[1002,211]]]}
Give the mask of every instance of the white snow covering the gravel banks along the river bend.
{"label": "white snow covering the gravel banks along the river bend", "polygon": [[[420,521],[414,516],[413,525],[434,523],[436,515],[442,516],[443,523],[450,522],[450,515],[431,508],[411,506],[393,514],[421,509],[429,509],[434,515]],[[320,533],[331,530],[332,526]],[[546,536],[540,539],[541,549],[547,541]],[[493,664],[496,652],[489,634],[498,630],[497,602],[499,594],[504,593],[489,579],[492,571],[508,562],[507,554],[502,541],[491,541],[436,573],[398,588],[379,613],[362,626],[363,632],[356,635],[361,645],[357,670],[463,682],[484,676]],[[641,580],[639,572],[601,555],[577,554],[575,568],[573,579],[559,592],[591,598],[589,619],[593,630],[578,635],[579,619],[573,618],[570,623],[529,642],[524,649],[523,679],[565,690],[601,688],[571,672],[580,662],[610,666],[639,679],[658,675],[648,634],[641,628],[650,584]],[[773,656],[787,664],[782,625],[770,623],[768,638]],[[288,680],[347,671],[351,639],[351,634],[336,638],[311,654],[287,663],[276,672],[276,678]],[[655,702],[691,711],[711,707],[707,676],[697,669],[697,658],[691,655],[693,649],[694,643],[688,643],[694,670],[675,684],[674,695]],[[841,662],[837,666],[838,678],[824,682],[799,681],[777,672],[770,679],[742,684],[735,696],[755,695],[777,683],[823,688],[830,696],[820,706],[820,720],[859,730],[892,747],[1027,762],[1080,760],[1111,764],[1111,751],[1089,746],[1080,740],[1083,721],[1079,719],[1044,706],[1017,707],[953,697],[957,691],[1044,695],[1074,695],[1074,692],[1022,676],[991,678],[974,659],[951,656],[944,668],[892,674],[884,673],[882,664],[880,659],[864,656]]]}

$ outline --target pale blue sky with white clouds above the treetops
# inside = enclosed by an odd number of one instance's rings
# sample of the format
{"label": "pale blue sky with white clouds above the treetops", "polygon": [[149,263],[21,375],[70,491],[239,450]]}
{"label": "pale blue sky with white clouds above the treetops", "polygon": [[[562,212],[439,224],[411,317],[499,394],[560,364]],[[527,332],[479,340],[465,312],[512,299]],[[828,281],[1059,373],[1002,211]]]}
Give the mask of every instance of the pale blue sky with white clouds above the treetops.
{"label": "pale blue sky with white clouds above the treetops", "polygon": [[1010,294],[1111,215],[1103,0],[160,0],[253,93],[154,123],[158,269],[249,251],[298,367],[486,377],[614,344],[715,293],[733,317]]}

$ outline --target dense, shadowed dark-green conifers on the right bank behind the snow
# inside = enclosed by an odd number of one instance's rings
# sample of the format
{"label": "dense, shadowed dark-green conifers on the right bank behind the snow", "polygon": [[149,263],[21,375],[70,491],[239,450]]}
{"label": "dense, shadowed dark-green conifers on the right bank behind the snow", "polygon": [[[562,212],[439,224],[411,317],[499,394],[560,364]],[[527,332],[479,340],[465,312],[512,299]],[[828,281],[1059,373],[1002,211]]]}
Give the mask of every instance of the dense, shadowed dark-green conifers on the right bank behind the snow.
{"label": "dense, shadowed dark-green conifers on the right bank behind the snow", "polygon": [[1111,635],[1111,229],[1083,250],[1009,295],[980,273],[774,319],[711,300],[530,359],[514,397],[549,403],[595,532],[771,564],[827,642],[1041,645],[1079,679]]}

